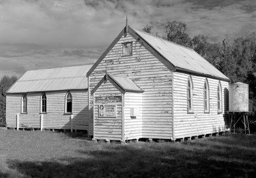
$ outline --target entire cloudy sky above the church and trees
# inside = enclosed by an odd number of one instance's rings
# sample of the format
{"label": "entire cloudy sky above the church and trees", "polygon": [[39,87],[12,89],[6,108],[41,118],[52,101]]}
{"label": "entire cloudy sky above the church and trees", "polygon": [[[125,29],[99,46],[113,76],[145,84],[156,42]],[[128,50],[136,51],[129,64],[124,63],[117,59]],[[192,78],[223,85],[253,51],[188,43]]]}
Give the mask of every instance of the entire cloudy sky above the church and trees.
{"label": "entire cloudy sky above the church and trees", "polygon": [[191,37],[232,41],[256,31],[255,0],[0,0],[0,77],[95,62],[125,26],[163,34],[168,20]]}

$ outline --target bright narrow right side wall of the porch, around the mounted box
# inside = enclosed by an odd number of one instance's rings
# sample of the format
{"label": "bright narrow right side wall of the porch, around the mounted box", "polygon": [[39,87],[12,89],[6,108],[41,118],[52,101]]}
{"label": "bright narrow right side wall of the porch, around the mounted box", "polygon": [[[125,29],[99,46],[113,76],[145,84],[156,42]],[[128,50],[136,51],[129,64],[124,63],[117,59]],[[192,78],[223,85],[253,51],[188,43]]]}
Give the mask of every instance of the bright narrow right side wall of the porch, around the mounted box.
{"label": "bright narrow right side wall of the porch, around the mounted box", "polygon": [[[142,138],[142,93],[125,93],[125,139]],[[138,108],[136,118],[131,118],[131,108]]]}

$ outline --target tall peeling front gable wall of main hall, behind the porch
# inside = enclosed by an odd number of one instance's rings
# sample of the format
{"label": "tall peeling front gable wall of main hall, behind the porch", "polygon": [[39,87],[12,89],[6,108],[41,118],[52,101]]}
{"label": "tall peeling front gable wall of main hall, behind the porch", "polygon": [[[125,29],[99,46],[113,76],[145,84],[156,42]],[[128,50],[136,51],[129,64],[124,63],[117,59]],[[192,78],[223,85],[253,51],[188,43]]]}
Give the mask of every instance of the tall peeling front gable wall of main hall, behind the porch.
{"label": "tall peeling front gable wall of main hall, behind the porch", "polygon": [[[130,41],[132,56],[122,57],[122,43]],[[90,91],[106,74],[106,66],[111,75],[128,76],[144,90],[141,100],[142,137],[172,138],[172,71],[130,34],[125,38],[122,36],[92,72]],[[109,91],[105,90],[104,93],[108,94]],[[90,110],[92,101],[90,96]]]}

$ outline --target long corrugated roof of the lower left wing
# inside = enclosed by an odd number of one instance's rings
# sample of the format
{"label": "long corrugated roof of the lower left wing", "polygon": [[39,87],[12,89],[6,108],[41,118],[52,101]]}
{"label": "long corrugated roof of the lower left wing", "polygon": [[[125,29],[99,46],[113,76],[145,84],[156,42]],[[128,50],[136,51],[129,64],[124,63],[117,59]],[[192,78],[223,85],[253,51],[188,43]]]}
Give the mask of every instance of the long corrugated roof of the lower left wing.
{"label": "long corrugated roof of the lower left wing", "polygon": [[92,64],[29,70],[6,93],[88,89],[86,73]]}

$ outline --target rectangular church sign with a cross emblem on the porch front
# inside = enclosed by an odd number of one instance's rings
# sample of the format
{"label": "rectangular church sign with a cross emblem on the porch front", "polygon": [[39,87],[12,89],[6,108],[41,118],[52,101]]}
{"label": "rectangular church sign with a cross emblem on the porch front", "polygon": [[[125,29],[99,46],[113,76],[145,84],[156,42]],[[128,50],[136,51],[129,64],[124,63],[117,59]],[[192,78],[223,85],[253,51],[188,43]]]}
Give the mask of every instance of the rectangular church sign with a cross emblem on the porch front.
{"label": "rectangular church sign with a cross emblem on the porch front", "polygon": [[116,104],[111,104],[111,103],[100,104],[99,117],[116,117]]}

